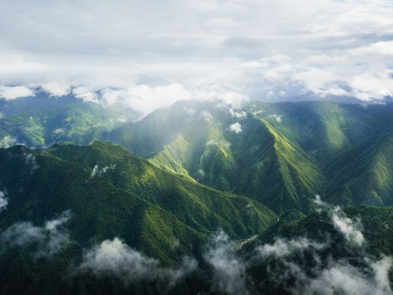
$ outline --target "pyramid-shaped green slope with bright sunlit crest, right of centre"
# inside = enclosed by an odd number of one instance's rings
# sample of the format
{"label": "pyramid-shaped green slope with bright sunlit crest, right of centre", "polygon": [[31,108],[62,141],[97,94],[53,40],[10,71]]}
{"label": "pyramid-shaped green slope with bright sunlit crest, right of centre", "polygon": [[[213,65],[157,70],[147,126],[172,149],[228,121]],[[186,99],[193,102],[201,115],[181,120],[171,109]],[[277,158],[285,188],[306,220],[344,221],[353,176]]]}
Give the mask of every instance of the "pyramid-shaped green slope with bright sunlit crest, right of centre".
{"label": "pyramid-shaped green slope with bright sunlit crest, right of centre", "polygon": [[265,119],[253,117],[243,126],[244,137],[234,143],[244,161],[234,192],[258,199],[280,213],[309,211],[314,195],[324,185],[317,162]]}

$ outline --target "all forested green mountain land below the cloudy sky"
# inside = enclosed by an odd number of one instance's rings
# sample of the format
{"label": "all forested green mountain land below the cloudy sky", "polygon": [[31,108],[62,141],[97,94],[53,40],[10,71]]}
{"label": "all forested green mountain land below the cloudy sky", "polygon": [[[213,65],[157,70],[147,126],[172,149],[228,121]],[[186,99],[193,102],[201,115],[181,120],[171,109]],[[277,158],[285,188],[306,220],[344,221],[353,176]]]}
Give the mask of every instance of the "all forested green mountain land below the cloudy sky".
{"label": "all forested green mountain land below the cloudy sky", "polygon": [[0,101],[1,294],[389,293],[392,104],[127,112]]}

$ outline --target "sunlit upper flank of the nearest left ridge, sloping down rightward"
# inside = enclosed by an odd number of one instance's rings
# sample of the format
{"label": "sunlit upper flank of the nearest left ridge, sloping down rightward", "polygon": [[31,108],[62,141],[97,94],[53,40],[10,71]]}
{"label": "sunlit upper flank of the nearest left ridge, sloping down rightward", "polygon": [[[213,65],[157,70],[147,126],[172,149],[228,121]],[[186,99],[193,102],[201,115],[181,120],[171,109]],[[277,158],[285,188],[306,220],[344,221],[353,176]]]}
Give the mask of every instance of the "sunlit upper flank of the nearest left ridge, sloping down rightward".
{"label": "sunlit upper flank of the nearest left ridge, sloping down rightward", "polygon": [[[102,142],[77,148],[55,145],[51,153],[67,161],[76,161],[88,169],[94,169],[97,165],[101,169],[99,171],[103,171],[106,166],[107,171],[100,175],[109,179],[114,186],[159,204],[183,223],[203,232],[210,232],[219,226],[235,236],[247,236],[266,227],[269,218],[274,218],[269,209],[246,197],[219,192],[187,176],[157,169],[118,145]],[[263,219],[264,216],[266,219]]]}

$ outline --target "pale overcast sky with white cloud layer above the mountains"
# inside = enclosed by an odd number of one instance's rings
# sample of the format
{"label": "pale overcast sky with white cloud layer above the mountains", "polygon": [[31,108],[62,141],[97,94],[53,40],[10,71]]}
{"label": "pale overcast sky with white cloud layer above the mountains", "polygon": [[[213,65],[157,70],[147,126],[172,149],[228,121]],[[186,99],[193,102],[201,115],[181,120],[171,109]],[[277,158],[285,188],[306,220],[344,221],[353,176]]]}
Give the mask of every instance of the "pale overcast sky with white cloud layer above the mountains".
{"label": "pale overcast sky with white cloud layer above the mountains", "polygon": [[[392,0],[0,0],[0,96],[393,96]],[[16,86],[16,87],[15,87]],[[74,86],[74,89],[71,88]]]}

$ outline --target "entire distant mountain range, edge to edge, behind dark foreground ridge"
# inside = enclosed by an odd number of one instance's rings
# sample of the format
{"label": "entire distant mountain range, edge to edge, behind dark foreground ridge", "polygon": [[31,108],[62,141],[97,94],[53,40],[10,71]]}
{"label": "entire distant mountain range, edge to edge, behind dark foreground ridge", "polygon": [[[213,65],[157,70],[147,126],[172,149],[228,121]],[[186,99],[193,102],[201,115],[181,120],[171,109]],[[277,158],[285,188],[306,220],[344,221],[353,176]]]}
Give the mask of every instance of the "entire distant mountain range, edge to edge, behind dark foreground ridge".
{"label": "entire distant mountain range, edge to edge, behind dark foreground ridge", "polygon": [[[139,121],[128,111],[40,92],[2,101],[0,146],[107,140],[161,169],[246,195],[277,214],[309,212],[314,195],[335,204],[392,204],[392,177],[380,176],[389,165],[378,147],[368,144],[362,155],[355,151],[364,147],[362,140],[393,130],[392,103],[180,101]],[[368,154],[375,154],[372,161]]]}

